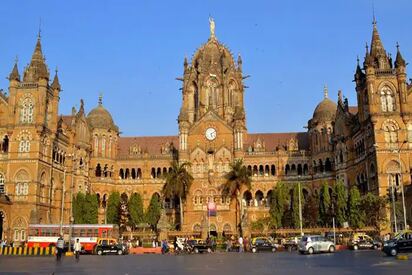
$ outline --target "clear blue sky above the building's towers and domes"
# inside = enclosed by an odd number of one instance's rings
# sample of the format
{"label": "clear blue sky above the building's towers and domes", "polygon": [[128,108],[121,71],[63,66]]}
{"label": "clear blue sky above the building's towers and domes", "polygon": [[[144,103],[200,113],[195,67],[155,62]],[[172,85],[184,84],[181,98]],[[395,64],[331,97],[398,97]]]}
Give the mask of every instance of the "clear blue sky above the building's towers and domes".
{"label": "clear blue sky above the building's towers and domes", "polygon": [[[393,55],[412,60],[410,0],[375,0],[378,29]],[[30,61],[41,18],[50,71],[63,87],[60,113],[99,93],[123,135],[175,135],[183,59],[216,36],[242,55],[249,132],[304,131],[327,83],[356,104],[356,56],[372,33],[372,0],[20,0],[0,5],[0,88],[16,55]]]}

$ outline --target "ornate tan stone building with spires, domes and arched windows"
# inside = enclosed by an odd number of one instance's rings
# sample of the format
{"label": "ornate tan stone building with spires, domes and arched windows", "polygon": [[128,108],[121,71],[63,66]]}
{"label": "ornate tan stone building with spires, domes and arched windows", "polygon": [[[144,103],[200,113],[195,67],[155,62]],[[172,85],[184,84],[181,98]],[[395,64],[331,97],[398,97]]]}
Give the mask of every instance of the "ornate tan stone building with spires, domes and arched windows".
{"label": "ornate tan stone building with spires, domes and arched windows", "polygon": [[[382,196],[392,183],[409,187],[412,86],[399,47],[393,62],[376,23],[363,66],[356,67],[357,105],[349,106],[341,92],[333,102],[325,87],[307,132],[248,132],[242,59],[219,42],[214,23],[183,69],[178,135],[122,137],[101,97],[87,115],[81,101],[79,110],[59,116],[59,79],[57,72],[50,78],[39,37],[23,76],[15,64],[8,93],[0,93],[0,234],[22,241],[29,223],[68,223],[77,192],[96,194],[101,223],[112,191],[138,192],[147,206],[161,195],[162,175],[176,158],[191,162],[195,179],[184,205],[186,232],[200,232],[206,223],[218,233],[236,230],[235,201],[219,187],[237,158],[252,172],[252,189],[241,192],[248,222],[269,215],[279,181],[291,188],[302,182],[304,196],[336,179]],[[410,192],[405,188],[409,218]],[[217,216],[208,219],[211,201]],[[170,201],[165,207],[178,223],[179,207]]]}

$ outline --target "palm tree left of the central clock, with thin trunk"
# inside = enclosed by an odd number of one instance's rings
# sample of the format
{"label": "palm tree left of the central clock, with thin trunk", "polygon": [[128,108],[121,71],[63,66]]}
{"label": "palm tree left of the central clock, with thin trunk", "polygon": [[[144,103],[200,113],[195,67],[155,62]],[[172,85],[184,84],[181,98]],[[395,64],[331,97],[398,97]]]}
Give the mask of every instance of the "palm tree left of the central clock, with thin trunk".
{"label": "palm tree left of the central clock, with thin trunk", "polygon": [[177,160],[171,162],[171,169],[165,175],[165,185],[163,186],[163,195],[166,199],[173,200],[179,198],[180,204],[180,230],[183,227],[183,202],[189,193],[190,186],[193,183],[193,177],[188,172],[189,162],[179,163]]}

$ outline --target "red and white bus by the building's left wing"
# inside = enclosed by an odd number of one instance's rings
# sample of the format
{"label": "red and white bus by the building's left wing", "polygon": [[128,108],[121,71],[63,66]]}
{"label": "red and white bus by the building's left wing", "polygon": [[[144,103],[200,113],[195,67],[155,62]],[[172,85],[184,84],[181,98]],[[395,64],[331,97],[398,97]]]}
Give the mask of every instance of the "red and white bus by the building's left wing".
{"label": "red and white bus by the building's left wing", "polygon": [[62,229],[63,237],[68,242],[72,230],[71,244],[79,239],[82,249],[93,253],[98,238],[119,238],[119,227],[113,224],[30,224],[27,247],[52,247],[56,245]]}

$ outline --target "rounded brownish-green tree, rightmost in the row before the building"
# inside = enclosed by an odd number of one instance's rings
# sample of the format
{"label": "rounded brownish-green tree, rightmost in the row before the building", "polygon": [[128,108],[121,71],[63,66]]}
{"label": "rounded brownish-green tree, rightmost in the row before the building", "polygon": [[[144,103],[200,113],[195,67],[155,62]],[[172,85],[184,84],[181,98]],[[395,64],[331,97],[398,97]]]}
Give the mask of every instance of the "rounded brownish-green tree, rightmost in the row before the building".
{"label": "rounded brownish-green tree, rightmost in the row before the building", "polygon": [[379,231],[380,226],[387,223],[386,217],[386,200],[384,197],[368,193],[361,199],[360,204],[363,215],[367,217],[365,223],[368,226],[373,226]]}

